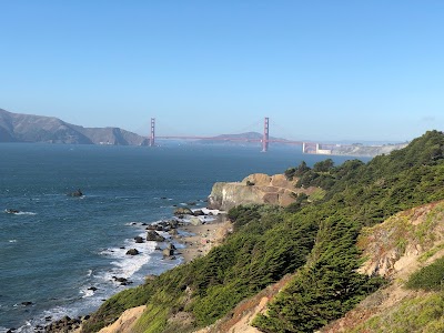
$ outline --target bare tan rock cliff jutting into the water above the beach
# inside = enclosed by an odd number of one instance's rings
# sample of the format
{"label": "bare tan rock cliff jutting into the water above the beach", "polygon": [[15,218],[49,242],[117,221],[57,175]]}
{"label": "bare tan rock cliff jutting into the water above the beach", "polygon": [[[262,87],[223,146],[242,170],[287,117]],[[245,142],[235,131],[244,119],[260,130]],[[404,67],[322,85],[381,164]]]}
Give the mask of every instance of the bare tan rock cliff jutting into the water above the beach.
{"label": "bare tan rock cliff jutting into the water above the beach", "polygon": [[289,181],[284,174],[254,173],[241,182],[219,182],[209,196],[209,208],[229,210],[239,204],[270,203],[286,206],[299,193],[311,194],[315,189],[296,189],[297,180]]}

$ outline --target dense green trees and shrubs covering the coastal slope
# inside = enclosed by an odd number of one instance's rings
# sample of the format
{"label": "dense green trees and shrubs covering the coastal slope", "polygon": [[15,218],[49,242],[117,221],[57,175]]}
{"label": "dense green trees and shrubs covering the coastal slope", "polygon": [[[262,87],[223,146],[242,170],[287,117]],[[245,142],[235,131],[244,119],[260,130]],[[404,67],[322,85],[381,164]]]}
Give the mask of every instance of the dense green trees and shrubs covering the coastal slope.
{"label": "dense green trees and shrubs covering the coastal slope", "polygon": [[[255,204],[230,210],[233,233],[222,245],[114,295],[84,323],[83,331],[97,332],[125,309],[147,304],[137,332],[191,332],[214,323],[287,274],[290,282],[253,324],[263,332],[321,329],[386,283],[357,272],[363,261],[362,248],[356,246],[362,231],[401,211],[444,199],[444,134],[426,132],[405,149],[369,163],[351,160],[335,167],[325,160],[309,168],[302,162],[284,174],[297,179],[300,188],[322,190],[315,198],[297,195],[285,209]],[[405,251],[405,243],[396,244]],[[424,268],[407,285],[441,289],[443,265],[441,260]],[[431,275],[435,278],[430,284]],[[442,295],[423,302],[435,304],[442,313]],[[400,309],[400,315],[408,309]],[[436,311],[428,317],[438,321]],[[189,320],[174,320],[179,314]]]}

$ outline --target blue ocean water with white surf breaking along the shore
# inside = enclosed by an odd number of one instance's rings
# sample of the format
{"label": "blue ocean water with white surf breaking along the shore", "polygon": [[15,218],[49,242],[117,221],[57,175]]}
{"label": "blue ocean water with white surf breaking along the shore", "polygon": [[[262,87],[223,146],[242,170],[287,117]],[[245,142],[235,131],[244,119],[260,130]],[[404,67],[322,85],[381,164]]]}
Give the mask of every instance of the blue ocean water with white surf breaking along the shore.
{"label": "blue ocean water with white surf breaking along the shore", "polygon": [[[0,332],[88,314],[125,287],[113,275],[137,285],[179,264],[133,238],[141,223],[170,219],[173,205],[204,206],[214,182],[324,159],[295,147],[0,144]],[[83,198],[67,195],[77,189]]]}

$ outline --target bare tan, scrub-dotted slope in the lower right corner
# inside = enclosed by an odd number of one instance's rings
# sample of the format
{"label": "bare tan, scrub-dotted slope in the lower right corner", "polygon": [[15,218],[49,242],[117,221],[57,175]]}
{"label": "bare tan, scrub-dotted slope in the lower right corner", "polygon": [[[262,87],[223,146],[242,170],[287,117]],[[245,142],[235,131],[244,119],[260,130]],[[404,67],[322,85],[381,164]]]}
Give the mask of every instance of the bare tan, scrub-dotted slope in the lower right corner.
{"label": "bare tan, scrub-dotted slope in the lower right corner", "polygon": [[443,222],[438,201],[364,229],[361,271],[389,283],[321,332],[443,332]]}

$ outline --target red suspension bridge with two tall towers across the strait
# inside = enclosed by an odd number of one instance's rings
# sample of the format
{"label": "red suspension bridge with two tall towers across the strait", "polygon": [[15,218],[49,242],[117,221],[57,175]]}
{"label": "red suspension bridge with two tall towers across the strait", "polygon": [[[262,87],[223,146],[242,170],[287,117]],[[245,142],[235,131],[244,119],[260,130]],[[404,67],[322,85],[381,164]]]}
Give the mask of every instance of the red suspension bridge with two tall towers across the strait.
{"label": "red suspension bridge with two tall towers across the strait", "polygon": [[175,139],[175,140],[210,140],[210,141],[226,141],[226,142],[259,142],[262,147],[262,152],[269,151],[270,143],[283,143],[302,145],[303,153],[320,153],[329,154],[335,144],[322,144],[317,142],[293,141],[286,139],[270,138],[270,119],[268,117],[263,120],[262,138],[242,138],[239,135],[220,135],[220,137],[199,137],[199,135],[155,135],[155,118],[151,118],[149,145],[154,147],[157,140]]}

